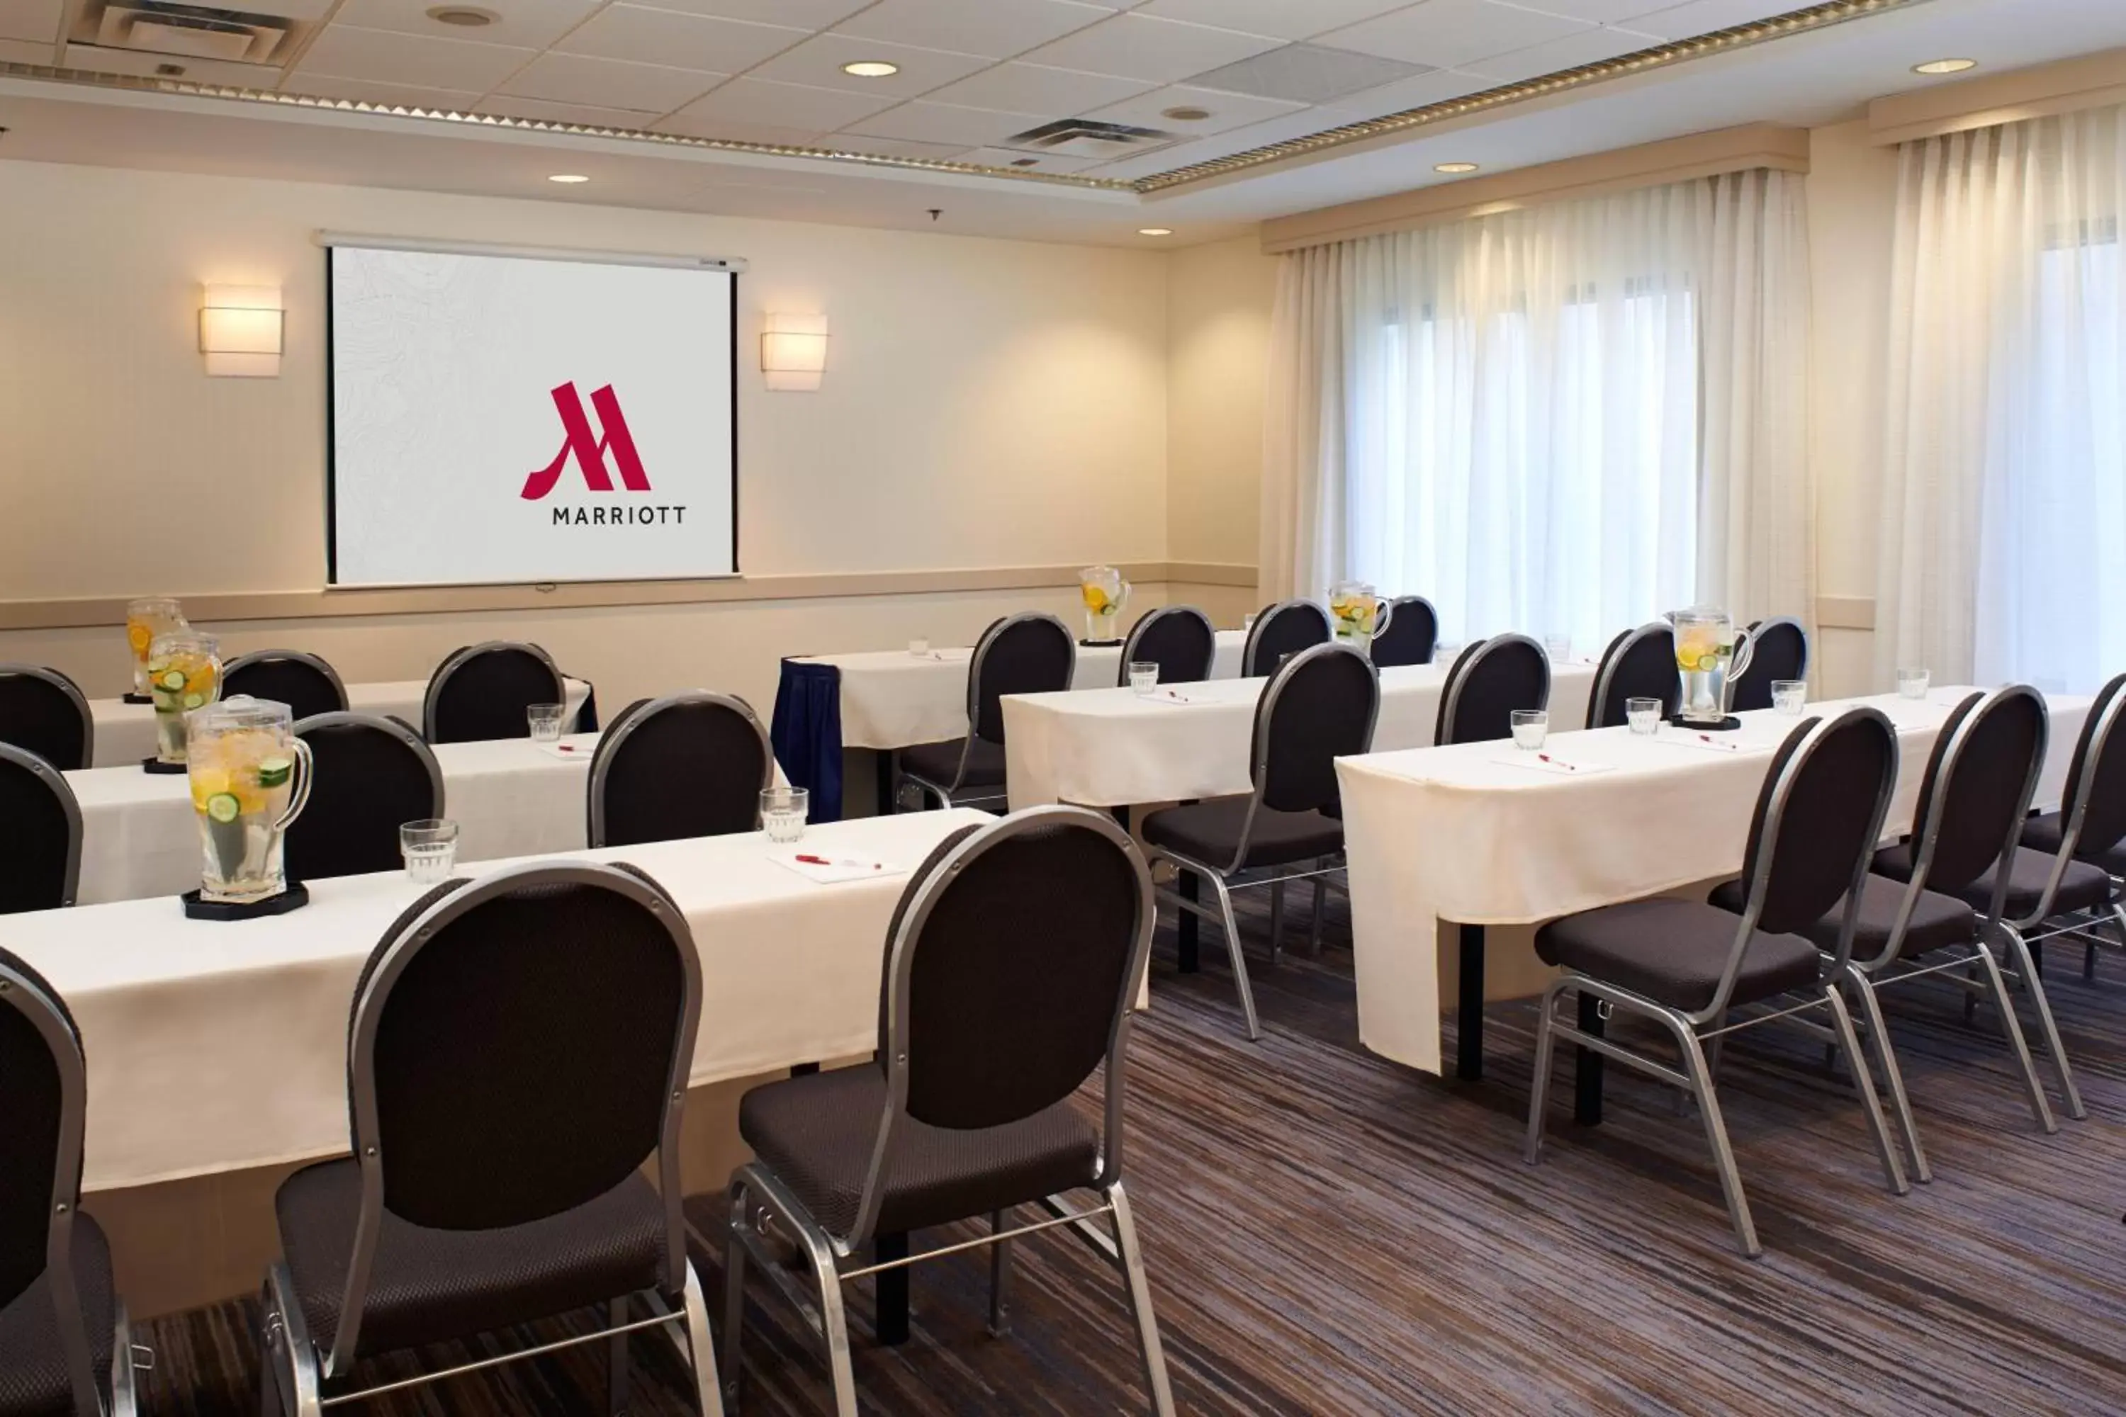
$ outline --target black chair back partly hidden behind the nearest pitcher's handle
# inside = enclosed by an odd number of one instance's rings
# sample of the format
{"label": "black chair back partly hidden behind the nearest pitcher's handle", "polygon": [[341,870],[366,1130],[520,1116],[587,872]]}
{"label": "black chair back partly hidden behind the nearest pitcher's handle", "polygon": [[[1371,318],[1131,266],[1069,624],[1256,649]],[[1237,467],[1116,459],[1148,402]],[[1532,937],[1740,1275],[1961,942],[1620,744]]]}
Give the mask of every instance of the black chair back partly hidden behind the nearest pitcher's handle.
{"label": "black chair back partly hidden behind the nearest pitcher's handle", "polygon": [[310,746],[310,805],[283,839],[291,882],[398,871],[398,829],[440,818],[442,767],[421,735],[378,714],[296,722]]}

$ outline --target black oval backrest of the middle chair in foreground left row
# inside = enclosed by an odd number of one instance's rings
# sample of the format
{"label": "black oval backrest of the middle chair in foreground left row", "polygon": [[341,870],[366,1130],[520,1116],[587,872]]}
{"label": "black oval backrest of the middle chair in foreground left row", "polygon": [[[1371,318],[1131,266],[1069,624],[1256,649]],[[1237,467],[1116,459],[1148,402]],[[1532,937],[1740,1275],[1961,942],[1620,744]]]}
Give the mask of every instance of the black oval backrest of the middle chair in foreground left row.
{"label": "black oval backrest of the middle chair in foreground left row", "polygon": [[432,890],[355,986],[364,1185],[436,1230],[610,1192],[676,1139],[699,1003],[687,920],[631,867],[534,863]]}

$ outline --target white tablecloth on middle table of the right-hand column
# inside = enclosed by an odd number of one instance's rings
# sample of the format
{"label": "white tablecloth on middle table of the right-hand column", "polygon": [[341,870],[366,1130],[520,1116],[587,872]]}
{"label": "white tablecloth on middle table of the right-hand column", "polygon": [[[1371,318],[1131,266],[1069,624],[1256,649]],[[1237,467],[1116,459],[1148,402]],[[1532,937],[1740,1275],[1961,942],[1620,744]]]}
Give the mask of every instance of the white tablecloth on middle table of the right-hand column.
{"label": "white tablecloth on middle table of the right-hand column", "polygon": [[[1448,665],[1380,671],[1373,748],[1422,748],[1439,724]],[[1003,699],[1003,756],[1012,809],[1065,801],[1084,807],[1191,801],[1250,790],[1254,701],[1269,680],[1184,684],[1201,703],[1161,703],[1129,688]],[[1592,665],[1556,665],[1550,722],[1580,727]]]}

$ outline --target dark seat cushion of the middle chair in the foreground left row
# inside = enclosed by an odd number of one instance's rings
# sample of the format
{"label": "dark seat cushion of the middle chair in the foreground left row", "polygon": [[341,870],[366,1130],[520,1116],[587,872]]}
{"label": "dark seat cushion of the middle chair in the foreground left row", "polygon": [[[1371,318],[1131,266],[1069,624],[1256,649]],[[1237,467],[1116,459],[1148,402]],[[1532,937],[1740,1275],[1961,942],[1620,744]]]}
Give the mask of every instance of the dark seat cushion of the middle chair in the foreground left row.
{"label": "dark seat cushion of the middle chair in the foreground left row", "polygon": [[[321,1353],[355,1253],[361,1168],[304,1166],[274,1194],[281,1253]],[[665,1213],[640,1173],[574,1211],[502,1230],[429,1230],[389,1209],[361,1309],[361,1355],[446,1343],[657,1287]]]}

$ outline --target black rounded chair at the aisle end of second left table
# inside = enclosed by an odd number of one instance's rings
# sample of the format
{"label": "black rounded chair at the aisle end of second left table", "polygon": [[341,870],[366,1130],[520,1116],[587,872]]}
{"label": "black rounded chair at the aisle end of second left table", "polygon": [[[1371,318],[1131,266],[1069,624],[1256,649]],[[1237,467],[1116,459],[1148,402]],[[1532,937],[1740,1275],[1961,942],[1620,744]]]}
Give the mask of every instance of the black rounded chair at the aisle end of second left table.
{"label": "black rounded chair at the aisle end of second left table", "polygon": [[691,690],[638,699],[591,758],[591,846],[755,831],[774,786],[767,729],[744,699]]}

